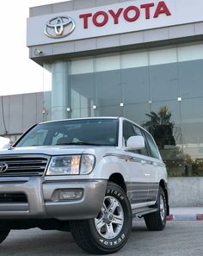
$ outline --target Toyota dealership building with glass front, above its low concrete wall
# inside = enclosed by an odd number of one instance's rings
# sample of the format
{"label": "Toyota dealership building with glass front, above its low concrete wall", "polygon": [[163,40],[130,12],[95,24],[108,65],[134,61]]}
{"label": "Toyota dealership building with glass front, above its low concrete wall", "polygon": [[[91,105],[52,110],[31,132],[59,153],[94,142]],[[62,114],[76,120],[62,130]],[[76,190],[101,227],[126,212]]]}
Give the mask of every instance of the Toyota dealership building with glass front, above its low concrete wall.
{"label": "Toyota dealership building with glass front, above its low concrete wall", "polygon": [[44,68],[39,118],[124,116],[153,134],[169,175],[203,176],[202,9],[202,0],[31,8],[29,58]]}

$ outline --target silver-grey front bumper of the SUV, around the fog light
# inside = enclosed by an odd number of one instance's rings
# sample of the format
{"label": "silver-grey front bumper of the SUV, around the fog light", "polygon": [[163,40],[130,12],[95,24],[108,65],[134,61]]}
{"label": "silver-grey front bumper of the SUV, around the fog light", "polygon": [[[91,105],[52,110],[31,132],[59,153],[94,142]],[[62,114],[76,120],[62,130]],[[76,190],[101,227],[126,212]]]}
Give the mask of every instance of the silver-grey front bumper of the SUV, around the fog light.
{"label": "silver-grey front bumper of the SUV, around the fog light", "polygon": [[[106,180],[54,180],[42,177],[0,178],[0,219],[56,218],[82,220],[98,215],[107,187]],[[59,200],[60,190],[83,190],[77,200]],[[25,195],[26,202],[6,202],[8,195]]]}

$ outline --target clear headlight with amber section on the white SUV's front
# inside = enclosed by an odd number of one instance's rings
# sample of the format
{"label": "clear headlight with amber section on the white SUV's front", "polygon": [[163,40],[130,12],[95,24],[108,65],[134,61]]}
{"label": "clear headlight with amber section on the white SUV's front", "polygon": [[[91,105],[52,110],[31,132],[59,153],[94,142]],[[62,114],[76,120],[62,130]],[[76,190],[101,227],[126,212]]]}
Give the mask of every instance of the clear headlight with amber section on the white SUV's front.
{"label": "clear headlight with amber section on the white SUV's front", "polygon": [[77,175],[89,174],[95,166],[95,156],[64,155],[52,157],[46,175]]}

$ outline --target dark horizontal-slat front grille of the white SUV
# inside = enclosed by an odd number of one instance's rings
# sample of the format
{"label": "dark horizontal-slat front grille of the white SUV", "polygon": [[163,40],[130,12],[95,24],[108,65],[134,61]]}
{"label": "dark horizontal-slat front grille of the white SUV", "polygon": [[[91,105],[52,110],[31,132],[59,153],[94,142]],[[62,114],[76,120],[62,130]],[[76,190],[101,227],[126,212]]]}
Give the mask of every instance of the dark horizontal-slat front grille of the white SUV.
{"label": "dark horizontal-slat front grille of the white SUV", "polygon": [[0,164],[8,165],[6,171],[0,169],[0,177],[4,176],[42,176],[46,170],[48,158],[38,156],[1,157]]}

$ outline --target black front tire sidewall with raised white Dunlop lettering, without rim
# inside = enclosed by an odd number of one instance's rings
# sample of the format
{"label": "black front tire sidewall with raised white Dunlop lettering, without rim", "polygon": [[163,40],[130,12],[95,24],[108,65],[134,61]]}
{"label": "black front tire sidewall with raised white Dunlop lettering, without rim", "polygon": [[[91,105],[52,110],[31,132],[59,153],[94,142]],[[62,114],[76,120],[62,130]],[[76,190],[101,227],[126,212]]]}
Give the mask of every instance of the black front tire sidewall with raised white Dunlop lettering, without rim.
{"label": "black front tire sidewall with raised white Dunlop lettering, without rim", "polygon": [[128,237],[131,233],[132,228],[132,209],[131,205],[126,197],[124,190],[120,189],[118,185],[108,184],[105,197],[114,197],[119,202],[124,212],[124,223],[123,227],[114,239],[106,239],[98,233],[95,228],[95,219],[89,220],[90,234],[93,236],[93,242],[96,243],[96,246],[102,247],[110,251],[117,251],[120,247],[123,247],[128,240]]}

